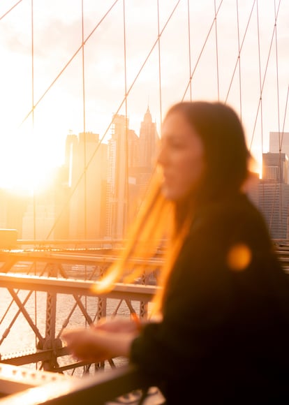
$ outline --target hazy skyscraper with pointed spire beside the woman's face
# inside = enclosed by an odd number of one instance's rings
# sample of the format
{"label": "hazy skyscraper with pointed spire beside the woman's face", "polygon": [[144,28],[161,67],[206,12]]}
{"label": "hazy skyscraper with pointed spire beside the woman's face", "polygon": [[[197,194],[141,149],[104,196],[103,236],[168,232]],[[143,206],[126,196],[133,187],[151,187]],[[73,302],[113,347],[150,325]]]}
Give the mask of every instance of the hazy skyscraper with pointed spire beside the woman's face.
{"label": "hazy skyscraper with pointed spire beside the woman's face", "polygon": [[149,107],[144,114],[144,120],[140,124],[140,166],[150,168],[151,171],[156,163],[156,148],[158,145],[158,133],[156,123],[151,119]]}

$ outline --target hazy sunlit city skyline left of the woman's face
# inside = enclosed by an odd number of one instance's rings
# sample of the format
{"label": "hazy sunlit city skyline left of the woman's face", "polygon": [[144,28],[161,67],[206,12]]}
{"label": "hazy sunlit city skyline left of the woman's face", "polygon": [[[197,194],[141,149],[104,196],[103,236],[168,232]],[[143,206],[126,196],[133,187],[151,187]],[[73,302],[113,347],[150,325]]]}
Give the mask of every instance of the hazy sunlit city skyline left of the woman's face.
{"label": "hazy sunlit city skyline left of the woman's face", "polygon": [[154,171],[158,133],[149,108],[140,135],[123,115],[114,115],[108,144],[97,133],[68,134],[49,187],[26,197],[0,188],[0,228],[22,239],[121,239]]}

